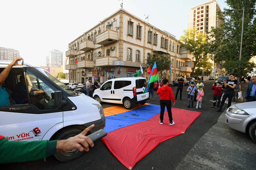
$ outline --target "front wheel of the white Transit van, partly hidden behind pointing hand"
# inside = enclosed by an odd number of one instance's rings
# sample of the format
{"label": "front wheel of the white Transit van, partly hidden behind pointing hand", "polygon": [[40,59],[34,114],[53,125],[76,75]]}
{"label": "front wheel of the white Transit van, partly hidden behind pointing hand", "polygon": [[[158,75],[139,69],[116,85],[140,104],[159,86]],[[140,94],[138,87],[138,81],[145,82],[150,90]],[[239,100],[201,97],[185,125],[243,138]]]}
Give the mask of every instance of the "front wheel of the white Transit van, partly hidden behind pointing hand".
{"label": "front wheel of the white Transit van, partly hidden behind pointing hand", "polygon": [[[79,128],[69,128],[68,130],[65,130],[65,131],[63,130],[63,131],[59,132],[56,135],[55,140],[72,138],[72,137],[76,136],[77,134],[81,133],[82,131],[83,130],[79,129]],[[74,159],[77,159],[82,154],[83,154],[83,152],[80,152],[77,148],[75,148],[70,151],[57,152],[54,155],[54,157],[61,162],[69,162]]]}

